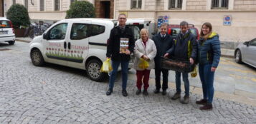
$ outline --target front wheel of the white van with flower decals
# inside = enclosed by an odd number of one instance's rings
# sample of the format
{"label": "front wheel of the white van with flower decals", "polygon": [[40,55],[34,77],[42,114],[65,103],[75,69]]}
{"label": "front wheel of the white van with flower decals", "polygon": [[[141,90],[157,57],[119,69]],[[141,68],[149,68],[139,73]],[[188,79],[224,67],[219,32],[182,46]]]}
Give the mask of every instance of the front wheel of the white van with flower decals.
{"label": "front wheel of the white van with flower decals", "polygon": [[34,66],[43,66],[44,58],[38,49],[34,49],[30,53],[30,58]]}

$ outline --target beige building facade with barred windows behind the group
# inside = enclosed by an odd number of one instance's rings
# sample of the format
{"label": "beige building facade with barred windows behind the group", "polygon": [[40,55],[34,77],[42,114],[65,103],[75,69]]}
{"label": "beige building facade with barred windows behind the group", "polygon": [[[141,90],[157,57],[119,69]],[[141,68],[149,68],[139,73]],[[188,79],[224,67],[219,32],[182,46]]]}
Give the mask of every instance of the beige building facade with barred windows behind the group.
{"label": "beige building facade with barred windows behind the group", "polygon": [[[12,4],[24,4],[32,20],[58,21],[75,0],[4,0],[4,12]],[[256,38],[256,0],[87,0],[95,5],[99,18],[151,20],[157,29],[158,19],[169,24],[188,21],[201,29],[204,22],[212,23],[221,41],[232,43]],[[165,17],[165,18],[164,18]]]}

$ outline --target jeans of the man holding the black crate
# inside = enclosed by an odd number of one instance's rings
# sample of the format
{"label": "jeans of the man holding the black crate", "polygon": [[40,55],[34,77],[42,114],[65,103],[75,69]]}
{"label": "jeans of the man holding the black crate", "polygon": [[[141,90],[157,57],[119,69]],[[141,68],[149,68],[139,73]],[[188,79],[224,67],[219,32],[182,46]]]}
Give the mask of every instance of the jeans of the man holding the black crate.
{"label": "jeans of the man holding the black crate", "polygon": [[[189,95],[189,73],[182,73],[184,81],[185,95]],[[176,92],[181,93],[181,73],[175,71]]]}

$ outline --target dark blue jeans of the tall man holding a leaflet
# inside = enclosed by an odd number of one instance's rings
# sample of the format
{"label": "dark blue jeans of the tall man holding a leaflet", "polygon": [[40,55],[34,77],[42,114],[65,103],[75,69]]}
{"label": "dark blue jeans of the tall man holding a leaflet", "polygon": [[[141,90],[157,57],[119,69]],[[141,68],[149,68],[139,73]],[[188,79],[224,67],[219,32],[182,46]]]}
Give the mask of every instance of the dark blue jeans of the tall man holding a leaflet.
{"label": "dark blue jeans of the tall man holding a leaflet", "polygon": [[110,79],[109,79],[109,88],[110,89],[113,89],[113,87],[114,87],[115,76],[116,76],[116,73],[118,73],[118,67],[119,67],[120,63],[121,63],[121,68],[122,68],[122,82],[123,82],[122,88],[123,88],[123,90],[126,89],[129,61],[112,61],[113,71],[111,71],[111,73],[110,73]]}

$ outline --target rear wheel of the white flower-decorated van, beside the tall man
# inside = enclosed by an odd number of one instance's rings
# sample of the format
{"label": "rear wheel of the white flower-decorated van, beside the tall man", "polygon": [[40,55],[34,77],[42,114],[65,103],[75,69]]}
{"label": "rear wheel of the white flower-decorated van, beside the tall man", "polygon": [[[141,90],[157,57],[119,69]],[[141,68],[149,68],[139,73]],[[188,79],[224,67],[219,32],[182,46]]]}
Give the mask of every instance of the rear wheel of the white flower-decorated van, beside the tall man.
{"label": "rear wheel of the white flower-decorated van, beside the tall man", "polygon": [[97,59],[92,59],[89,61],[86,66],[86,73],[91,80],[100,82],[106,78],[107,73],[100,72],[101,65],[102,62],[98,61]]}

